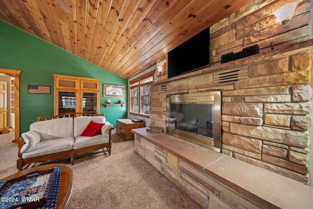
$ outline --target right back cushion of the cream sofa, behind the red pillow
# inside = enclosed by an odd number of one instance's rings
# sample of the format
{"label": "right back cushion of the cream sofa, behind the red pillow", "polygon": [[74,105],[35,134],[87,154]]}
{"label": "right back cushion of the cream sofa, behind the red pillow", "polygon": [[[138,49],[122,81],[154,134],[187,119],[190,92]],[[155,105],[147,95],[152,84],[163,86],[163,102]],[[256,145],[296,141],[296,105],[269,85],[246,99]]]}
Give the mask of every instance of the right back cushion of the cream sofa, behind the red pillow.
{"label": "right back cushion of the cream sofa, behind the red pillow", "polygon": [[97,123],[105,123],[106,118],[104,116],[77,116],[74,117],[74,137],[79,137],[83,131],[87,128],[89,122],[93,120]]}

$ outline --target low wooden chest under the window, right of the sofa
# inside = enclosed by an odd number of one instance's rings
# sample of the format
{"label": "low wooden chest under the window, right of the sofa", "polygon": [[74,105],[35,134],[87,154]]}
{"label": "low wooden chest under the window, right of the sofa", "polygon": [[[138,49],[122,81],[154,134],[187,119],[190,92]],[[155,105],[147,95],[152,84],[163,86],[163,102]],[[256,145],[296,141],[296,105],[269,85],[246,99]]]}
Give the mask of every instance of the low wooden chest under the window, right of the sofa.
{"label": "low wooden chest under the window, right of the sofa", "polygon": [[125,141],[134,140],[132,129],[145,127],[144,121],[132,122],[132,119],[117,119],[116,120],[116,135]]}

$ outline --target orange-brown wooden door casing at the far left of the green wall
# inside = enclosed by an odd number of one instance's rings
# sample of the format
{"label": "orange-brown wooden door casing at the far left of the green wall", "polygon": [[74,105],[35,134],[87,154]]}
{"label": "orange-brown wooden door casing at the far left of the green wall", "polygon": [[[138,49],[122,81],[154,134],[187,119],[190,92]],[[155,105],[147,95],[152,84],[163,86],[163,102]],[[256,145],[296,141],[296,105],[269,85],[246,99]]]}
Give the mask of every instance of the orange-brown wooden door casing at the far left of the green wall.
{"label": "orange-brown wooden door casing at the far left of the green wall", "polygon": [[[0,73],[6,74],[8,76],[14,77],[14,85],[12,85],[12,91],[14,88],[14,116],[11,120],[14,120],[14,139],[20,137],[20,74],[22,70],[10,70],[0,68]],[[11,87],[10,87],[11,88]],[[12,93],[13,97],[13,93]],[[13,122],[13,121],[12,121]]]}

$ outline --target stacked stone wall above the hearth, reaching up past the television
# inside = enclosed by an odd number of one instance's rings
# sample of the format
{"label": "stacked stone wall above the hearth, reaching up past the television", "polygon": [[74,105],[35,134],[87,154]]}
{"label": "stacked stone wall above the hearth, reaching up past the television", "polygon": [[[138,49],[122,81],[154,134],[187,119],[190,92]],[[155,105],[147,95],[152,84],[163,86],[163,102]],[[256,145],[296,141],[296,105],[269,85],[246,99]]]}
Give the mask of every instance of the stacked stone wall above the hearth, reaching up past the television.
{"label": "stacked stone wall above the hearth, reaching up past the television", "polygon": [[[287,25],[275,23],[272,12],[290,1],[256,0],[213,25],[207,69],[166,79],[167,57],[161,57],[165,70],[151,90],[151,125],[166,131],[167,95],[221,91],[222,152],[309,184],[313,47],[305,40],[311,34],[311,1],[299,3]],[[219,63],[222,54],[254,44],[260,54]],[[216,79],[234,70],[242,72],[238,80]]]}

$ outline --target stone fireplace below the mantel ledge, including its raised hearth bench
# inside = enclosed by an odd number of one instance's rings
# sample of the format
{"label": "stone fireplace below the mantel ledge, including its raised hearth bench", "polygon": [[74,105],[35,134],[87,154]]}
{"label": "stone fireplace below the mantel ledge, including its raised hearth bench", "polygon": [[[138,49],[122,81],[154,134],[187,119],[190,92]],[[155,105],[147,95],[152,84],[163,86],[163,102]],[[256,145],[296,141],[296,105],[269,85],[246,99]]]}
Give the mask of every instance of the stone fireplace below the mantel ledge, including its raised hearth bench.
{"label": "stone fireplace below the mantel ledge, including its raised hearth bench", "polygon": [[[223,154],[142,130],[136,152],[204,208],[311,207],[313,188],[299,182],[310,184],[312,54],[309,40],[157,82],[150,125],[164,131],[166,95],[222,91]],[[219,82],[234,71],[237,80]]]}

